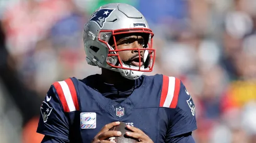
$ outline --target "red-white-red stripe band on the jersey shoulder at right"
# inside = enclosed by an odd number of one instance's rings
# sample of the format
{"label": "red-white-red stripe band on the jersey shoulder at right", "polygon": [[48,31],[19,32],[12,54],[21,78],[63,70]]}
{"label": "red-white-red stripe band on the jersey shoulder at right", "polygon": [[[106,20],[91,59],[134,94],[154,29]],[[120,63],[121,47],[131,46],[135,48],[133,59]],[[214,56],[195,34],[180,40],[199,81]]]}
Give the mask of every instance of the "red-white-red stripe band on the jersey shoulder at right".
{"label": "red-white-red stripe band on the jersey shoulder at right", "polygon": [[180,93],[180,80],[163,75],[160,107],[176,108]]}

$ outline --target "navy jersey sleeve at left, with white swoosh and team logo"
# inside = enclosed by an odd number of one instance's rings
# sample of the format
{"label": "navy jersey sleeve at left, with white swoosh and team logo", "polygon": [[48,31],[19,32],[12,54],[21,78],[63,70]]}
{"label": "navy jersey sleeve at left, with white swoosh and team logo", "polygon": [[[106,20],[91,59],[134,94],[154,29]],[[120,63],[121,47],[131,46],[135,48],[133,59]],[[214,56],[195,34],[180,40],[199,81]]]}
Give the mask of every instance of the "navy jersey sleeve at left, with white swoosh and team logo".
{"label": "navy jersey sleeve at left, with white swoosh and team logo", "polygon": [[40,111],[37,133],[68,141],[68,120],[54,85],[51,85],[46,94]]}

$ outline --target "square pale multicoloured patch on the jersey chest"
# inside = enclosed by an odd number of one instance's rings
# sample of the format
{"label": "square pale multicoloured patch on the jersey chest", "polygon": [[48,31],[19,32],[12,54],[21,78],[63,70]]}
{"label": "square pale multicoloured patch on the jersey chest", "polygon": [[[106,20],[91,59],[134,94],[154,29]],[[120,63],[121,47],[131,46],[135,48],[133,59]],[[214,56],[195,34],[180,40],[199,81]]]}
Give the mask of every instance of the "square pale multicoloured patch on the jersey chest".
{"label": "square pale multicoloured patch on the jersey chest", "polygon": [[84,112],[80,113],[80,126],[82,129],[85,128],[96,128],[96,113],[95,112]]}

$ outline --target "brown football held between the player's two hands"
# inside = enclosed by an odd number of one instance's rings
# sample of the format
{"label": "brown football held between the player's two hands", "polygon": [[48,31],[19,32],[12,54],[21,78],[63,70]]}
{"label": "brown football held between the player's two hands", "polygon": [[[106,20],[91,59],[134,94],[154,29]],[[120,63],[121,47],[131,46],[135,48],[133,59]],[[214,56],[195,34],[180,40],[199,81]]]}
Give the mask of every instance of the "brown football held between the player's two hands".
{"label": "brown football held between the player's two hands", "polygon": [[110,128],[109,130],[110,131],[120,131],[122,133],[122,135],[119,136],[119,137],[111,137],[107,140],[115,141],[117,143],[135,143],[135,142],[138,142],[137,139],[131,138],[131,137],[125,135],[126,132],[131,132],[131,131],[126,127],[126,124],[124,122],[120,122],[120,124],[118,126],[114,126],[114,127]]}

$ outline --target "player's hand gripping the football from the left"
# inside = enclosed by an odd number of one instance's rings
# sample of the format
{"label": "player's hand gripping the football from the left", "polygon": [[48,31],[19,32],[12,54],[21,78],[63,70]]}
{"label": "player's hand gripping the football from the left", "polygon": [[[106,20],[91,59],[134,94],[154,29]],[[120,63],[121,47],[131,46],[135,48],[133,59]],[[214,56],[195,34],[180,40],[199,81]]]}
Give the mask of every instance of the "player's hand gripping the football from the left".
{"label": "player's hand gripping the football from the left", "polygon": [[119,131],[109,131],[110,128],[112,128],[113,126],[117,126],[119,124],[120,122],[112,122],[107,125],[104,125],[101,128],[100,132],[94,137],[94,139],[92,139],[91,143],[113,143],[111,141],[104,140],[104,139],[114,137],[114,136],[115,137],[121,136],[122,133]]}

